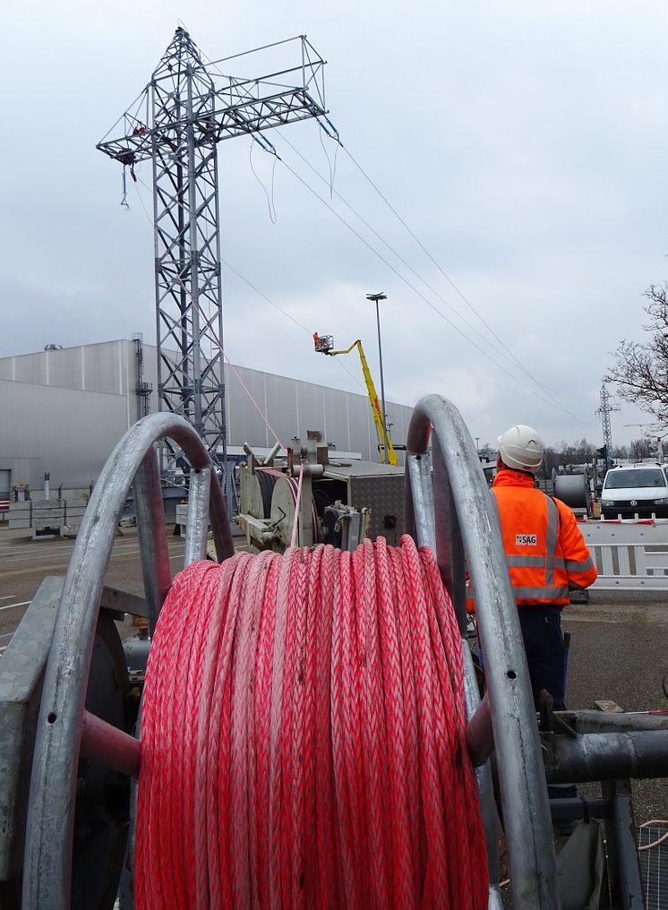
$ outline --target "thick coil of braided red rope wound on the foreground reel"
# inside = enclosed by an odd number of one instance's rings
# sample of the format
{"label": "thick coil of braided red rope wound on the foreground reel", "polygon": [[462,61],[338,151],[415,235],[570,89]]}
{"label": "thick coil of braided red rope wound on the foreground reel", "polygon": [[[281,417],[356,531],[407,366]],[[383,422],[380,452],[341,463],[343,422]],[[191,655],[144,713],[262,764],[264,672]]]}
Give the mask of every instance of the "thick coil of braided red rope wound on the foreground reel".
{"label": "thick coil of braided red rope wound on the foreground reel", "polygon": [[239,552],[151,646],[137,910],[481,910],[461,638],[428,549]]}

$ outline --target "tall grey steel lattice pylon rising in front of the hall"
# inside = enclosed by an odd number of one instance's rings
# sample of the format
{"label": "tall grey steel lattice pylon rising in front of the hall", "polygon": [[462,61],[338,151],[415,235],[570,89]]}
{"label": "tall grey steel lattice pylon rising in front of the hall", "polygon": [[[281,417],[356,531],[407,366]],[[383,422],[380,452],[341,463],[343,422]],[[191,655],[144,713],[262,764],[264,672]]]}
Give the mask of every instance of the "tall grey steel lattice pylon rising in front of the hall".
{"label": "tall grey steel lattice pylon rising in front of the hall", "polygon": [[[237,78],[205,63],[177,28],[151,81],[97,148],[124,166],[152,162],[160,410],[184,415],[225,467],[225,369],[218,209],[218,143],[308,117],[326,118],[325,61],[304,35],[249,51],[289,54],[287,66]],[[235,60],[247,55],[228,57]],[[289,64],[293,65],[290,66]],[[120,136],[109,137],[119,129]],[[327,128],[327,127],[325,127]]]}

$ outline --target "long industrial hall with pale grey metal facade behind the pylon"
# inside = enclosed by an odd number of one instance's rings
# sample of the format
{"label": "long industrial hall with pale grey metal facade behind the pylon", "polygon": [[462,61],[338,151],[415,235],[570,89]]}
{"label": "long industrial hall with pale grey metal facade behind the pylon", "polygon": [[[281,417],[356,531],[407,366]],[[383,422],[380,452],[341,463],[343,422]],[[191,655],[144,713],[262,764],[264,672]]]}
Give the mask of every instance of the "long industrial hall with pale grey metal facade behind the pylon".
{"label": "long industrial hall with pale grey metal facade behind the pylon", "polygon": [[[401,442],[412,409],[387,407]],[[52,490],[86,490],[126,430],[156,410],[157,349],[138,339],[0,359],[0,500],[18,484],[42,489],[45,473]],[[226,424],[230,450],[245,442],[270,447],[271,430],[287,445],[321,430],[336,450],[379,460],[366,395],[257,369],[227,370]]]}

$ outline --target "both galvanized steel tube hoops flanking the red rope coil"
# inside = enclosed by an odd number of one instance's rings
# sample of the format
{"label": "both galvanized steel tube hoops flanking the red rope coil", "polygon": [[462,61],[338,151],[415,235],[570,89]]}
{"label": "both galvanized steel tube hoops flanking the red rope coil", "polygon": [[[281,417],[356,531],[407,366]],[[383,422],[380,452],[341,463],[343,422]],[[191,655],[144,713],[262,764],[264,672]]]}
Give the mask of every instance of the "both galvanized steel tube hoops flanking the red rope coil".
{"label": "both galvanized steel tube hoops flanking the red rope coil", "polygon": [[[430,426],[438,443],[434,447],[433,486],[428,462],[422,457]],[[69,906],[76,758],[90,652],[116,522],[131,485],[137,501],[137,531],[151,631],[171,586],[154,449],[157,442],[165,439],[177,443],[193,469],[185,564],[204,557],[209,521],[218,560],[233,553],[221,490],[197,433],[176,415],[157,414],[140,420],[118,443],[96,484],[60,600],[35,739],[25,843],[26,906],[44,910],[65,910]],[[501,759],[513,895],[518,907],[556,910],[550,815],[528,671],[516,615],[512,622],[510,582],[506,582],[506,591],[502,582],[494,581],[502,580],[504,573],[507,579],[507,571],[500,532],[494,525],[498,518],[490,510],[489,493],[474,456],[471,437],[459,412],[445,399],[423,399],[410,425],[407,514],[414,523],[417,542],[429,544],[437,553],[460,622],[464,604],[463,547],[468,553],[471,576],[480,592],[479,619],[491,689],[496,693],[491,710]],[[464,654],[465,658],[469,656],[467,648]],[[472,716],[479,697],[474,693],[471,663],[467,667],[467,708]],[[491,777],[485,768],[479,769],[478,774],[491,871],[490,906],[497,907],[501,904]],[[521,796],[512,807],[511,785]]]}

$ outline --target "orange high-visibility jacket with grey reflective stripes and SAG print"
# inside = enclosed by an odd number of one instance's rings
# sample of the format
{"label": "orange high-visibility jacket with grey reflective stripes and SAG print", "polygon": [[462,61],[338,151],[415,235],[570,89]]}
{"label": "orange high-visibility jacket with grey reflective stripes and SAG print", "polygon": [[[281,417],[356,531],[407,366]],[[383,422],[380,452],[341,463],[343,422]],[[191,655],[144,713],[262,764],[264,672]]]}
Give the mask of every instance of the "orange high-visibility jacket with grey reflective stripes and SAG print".
{"label": "orange high-visibility jacket with grey reflective stripes and SAG print", "polygon": [[596,568],[572,511],[533,486],[531,474],[500,470],[492,491],[518,606],[569,602],[569,589],[596,581]]}

